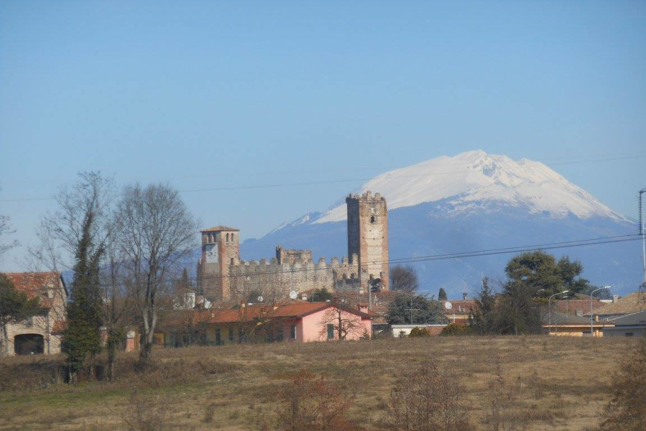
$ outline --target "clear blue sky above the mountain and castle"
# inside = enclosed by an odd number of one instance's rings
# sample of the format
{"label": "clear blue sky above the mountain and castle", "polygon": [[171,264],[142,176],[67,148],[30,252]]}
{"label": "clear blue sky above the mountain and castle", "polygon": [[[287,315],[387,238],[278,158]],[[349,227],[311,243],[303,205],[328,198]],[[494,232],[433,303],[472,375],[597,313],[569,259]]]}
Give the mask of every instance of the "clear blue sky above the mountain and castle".
{"label": "clear blue sky above the mountain and castle", "polygon": [[0,213],[22,247],[0,270],[22,269],[54,209],[15,200],[87,170],[179,190],[327,182],[183,192],[203,226],[250,238],[385,170],[483,149],[636,218],[644,22],[640,1],[3,1]]}

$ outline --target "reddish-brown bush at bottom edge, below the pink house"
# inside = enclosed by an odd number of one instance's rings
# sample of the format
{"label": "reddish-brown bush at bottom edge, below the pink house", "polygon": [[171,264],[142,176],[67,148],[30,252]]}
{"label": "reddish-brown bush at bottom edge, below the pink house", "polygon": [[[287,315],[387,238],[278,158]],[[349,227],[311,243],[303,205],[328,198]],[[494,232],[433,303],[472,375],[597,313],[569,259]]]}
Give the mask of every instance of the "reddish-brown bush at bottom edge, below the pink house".
{"label": "reddish-brown bush at bottom edge, below the pink house", "polygon": [[353,397],[335,384],[327,382],[324,375],[316,377],[300,371],[290,384],[279,393],[282,407],[277,410],[277,429],[285,431],[345,431],[358,427],[345,420]]}

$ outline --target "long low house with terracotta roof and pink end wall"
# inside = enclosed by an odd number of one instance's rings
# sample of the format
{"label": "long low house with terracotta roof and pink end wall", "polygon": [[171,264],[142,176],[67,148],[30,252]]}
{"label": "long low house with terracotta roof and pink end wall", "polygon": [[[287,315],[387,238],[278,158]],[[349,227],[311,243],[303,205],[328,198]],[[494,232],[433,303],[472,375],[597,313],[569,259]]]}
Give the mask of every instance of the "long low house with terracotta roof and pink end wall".
{"label": "long low house with terracotta roof and pink end wall", "polygon": [[[203,325],[206,343],[224,345],[245,341],[308,343],[358,340],[372,336],[372,316],[333,302],[289,301],[279,304],[241,304],[235,309],[192,310],[192,325]],[[164,334],[165,345],[181,345],[181,328]],[[161,334],[160,334],[161,335]]]}

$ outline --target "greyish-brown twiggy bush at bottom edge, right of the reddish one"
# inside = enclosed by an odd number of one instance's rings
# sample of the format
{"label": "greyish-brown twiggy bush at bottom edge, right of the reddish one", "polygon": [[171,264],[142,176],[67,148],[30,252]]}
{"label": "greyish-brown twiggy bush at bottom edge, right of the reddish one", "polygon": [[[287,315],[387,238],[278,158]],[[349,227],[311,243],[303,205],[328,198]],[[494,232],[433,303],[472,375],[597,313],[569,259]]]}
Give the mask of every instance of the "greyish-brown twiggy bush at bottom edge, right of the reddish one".
{"label": "greyish-brown twiggy bush at bottom edge, right of the reddish one", "polygon": [[438,371],[435,364],[406,368],[390,392],[382,426],[392,431],[470,430],[462,394],[457,376]]}

